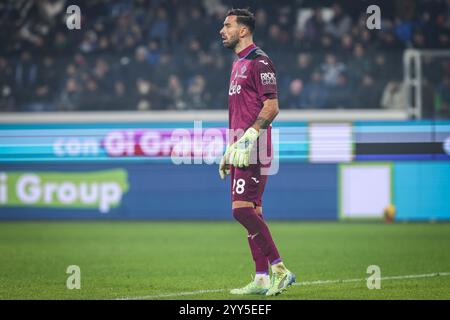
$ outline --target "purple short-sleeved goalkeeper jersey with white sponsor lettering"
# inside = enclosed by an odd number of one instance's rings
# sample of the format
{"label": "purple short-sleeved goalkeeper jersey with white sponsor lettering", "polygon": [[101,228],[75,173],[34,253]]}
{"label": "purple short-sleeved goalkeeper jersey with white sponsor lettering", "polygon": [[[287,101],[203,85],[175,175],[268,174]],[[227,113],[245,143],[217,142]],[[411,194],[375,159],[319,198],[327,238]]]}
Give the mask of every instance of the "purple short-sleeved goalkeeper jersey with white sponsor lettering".
{"label": "purple short-sleeved goalkeeper jersey with white sponsor lettering", "polygon": [[[228,90],[229,127],[247,130],[266,99],[277,98],[275,68],[267,54],[251,44],[233,62]],[[270,133],[270,127],[268,128]]]}

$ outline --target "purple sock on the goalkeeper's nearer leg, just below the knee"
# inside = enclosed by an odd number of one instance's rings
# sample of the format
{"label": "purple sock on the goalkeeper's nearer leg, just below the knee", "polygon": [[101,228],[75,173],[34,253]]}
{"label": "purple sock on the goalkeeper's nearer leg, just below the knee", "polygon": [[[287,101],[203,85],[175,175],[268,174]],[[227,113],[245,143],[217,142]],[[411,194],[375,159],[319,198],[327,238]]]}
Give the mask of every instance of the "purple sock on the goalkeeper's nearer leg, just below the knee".
{"label": "purple sock on the goalkeeper's nearer leg, just below the knee", "polygon": [[253,240],[269,262],[272,263],[280,259],[280,254],[273,242],[269,228],[254,208],[233,209],[233,216],[247,229],[249,240]]}

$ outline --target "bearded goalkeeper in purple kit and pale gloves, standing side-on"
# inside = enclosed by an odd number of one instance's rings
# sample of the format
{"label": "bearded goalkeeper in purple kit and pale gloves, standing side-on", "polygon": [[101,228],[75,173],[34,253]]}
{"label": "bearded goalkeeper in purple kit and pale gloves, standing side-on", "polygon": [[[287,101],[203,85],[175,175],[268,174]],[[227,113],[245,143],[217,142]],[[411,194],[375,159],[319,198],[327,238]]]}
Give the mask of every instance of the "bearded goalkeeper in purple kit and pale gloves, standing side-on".
{"label": "bearded goalkeeper in purple kit and pale gloves, standing side-on", "polygon": [[[275,69],[269,57],[253,43],[254,29],[255,18],[250,11],[232,9],[220,30],[223,45],[238,57],[228,90],[231,141],[219,174],[222,179],[231,175],[233,216],[247,229],[256,268],[254,280],[231,293],[271,296],[294,283],[295,275],[283,264],[262,215],[267,180],[264,169],[270,167],[271,123],[278,114],[278,100]],[[268,161],[262,161],[261,154],[268,155]]]}

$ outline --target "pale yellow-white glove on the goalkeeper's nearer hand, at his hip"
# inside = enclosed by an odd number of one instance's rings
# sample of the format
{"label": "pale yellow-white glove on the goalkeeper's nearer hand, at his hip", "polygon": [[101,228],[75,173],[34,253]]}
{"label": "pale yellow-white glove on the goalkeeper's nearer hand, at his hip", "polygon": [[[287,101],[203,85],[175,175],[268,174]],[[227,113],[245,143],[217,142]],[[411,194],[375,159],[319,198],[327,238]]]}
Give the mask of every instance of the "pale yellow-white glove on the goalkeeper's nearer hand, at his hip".
{"label": "pale yellow-white glove on the goalkeeper's nearer hand, at his hip", "polygon": [[258,136],[258,130],[253,127],[245,131],[244,135],[230,146],[229,163],[238,168],[248,167],[250,155]]}

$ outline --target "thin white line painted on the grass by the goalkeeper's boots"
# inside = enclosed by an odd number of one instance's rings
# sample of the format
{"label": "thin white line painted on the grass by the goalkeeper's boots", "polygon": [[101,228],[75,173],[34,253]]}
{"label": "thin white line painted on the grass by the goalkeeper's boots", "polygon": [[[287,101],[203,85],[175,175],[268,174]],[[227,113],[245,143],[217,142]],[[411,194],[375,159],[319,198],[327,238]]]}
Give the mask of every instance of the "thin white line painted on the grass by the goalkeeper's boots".
{"label": "thin white line painted on the grass by the goalkeeper's boots", "polygon": [[[389,276],[389,277],[381,277],[381,280],[402,280],[402,279],[417,279],[417,278],[432,278],[438,276],[450,276],[450,272],[435,272],[435,273],[425,273],[425,274],[410,274],[403,276]],[[316,281],[302,281],[294,283],[293,286],[311,286],[311,285],[320,285],[320,284],[334,284],[334,283],[348,283],[348,282],[360,282],[366,281],[366,278],[358,278],[358,279],[336,279],[336,280],[316,280]],[[178,292],[178,293],[167,293],[167,294],[157,294],[157,295],[148,295],[148,296],[138,296],[138,297],[123,297],[117,298],[116,300],[146,300],[146,299],[158,299],[158,298],[170,298],[170,297],[182,297],[182,296],[192,296],[203,293],[215,293],[215,292],[224,292],[229,289],[215,289],[215,290],[197,290],[190,292]]]}

